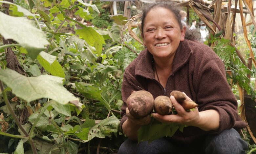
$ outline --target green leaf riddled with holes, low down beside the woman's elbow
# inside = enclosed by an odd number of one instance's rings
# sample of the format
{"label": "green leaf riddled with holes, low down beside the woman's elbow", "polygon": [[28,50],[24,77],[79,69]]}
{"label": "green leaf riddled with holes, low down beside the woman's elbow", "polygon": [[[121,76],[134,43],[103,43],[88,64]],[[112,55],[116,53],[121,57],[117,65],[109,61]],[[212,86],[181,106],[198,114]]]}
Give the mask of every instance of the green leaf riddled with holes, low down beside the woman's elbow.
{"label": "green leaf riddled with holes, low down beside the woman's elbow", "polygon": [[90,129],[88,134],[88,140],[86,140],[85,142],[92,140],[94,137],[111,137],[112,133],[117,133],[119,125],[120,121],[117,119],[116,116],[113,115],[109,118],[106,118]]}

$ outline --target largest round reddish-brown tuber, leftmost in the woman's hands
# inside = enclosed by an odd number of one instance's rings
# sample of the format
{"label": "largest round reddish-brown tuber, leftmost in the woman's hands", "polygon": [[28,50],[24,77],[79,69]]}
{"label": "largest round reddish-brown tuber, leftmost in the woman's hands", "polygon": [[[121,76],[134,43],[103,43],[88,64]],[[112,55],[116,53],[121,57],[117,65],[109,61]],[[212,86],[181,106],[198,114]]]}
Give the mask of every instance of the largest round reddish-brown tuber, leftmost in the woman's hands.
{"label": "largest round reddish-brown tuber, leftmost in the woman's hands", "polygon": [[133,92],[127,99],[126,105],[134,118],[142,118],[152,112],[154,97],[145,90]]}

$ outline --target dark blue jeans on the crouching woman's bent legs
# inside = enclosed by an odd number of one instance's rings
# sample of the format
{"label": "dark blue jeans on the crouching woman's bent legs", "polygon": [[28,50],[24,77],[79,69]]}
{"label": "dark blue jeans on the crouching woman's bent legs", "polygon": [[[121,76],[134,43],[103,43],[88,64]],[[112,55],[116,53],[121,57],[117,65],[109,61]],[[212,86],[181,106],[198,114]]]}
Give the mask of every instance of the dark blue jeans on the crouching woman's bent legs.
{"label": "dark blue jeans on the crouching woman's bent legs", "polygon": [[248,144],[235,129],[220,134],[209,134],[205,140],[191,145],[181,145],[161,138],[148,144],[127,139],[119,147],[118,154],[244,154]]}

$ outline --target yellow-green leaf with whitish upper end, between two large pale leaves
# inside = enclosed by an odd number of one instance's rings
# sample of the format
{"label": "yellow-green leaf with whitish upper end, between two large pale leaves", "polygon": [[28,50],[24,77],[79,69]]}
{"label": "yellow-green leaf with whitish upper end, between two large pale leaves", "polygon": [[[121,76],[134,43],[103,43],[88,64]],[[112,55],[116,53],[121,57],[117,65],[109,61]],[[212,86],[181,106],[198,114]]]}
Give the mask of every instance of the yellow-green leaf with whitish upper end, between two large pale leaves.
{"label": "yellow-green leaf with whitish upper end, between two large pale leaves", "polygon": [[46,52],[40,52],[36,59],[49,73],[53,74],[54,76],[65,78],[64,70],[56,60],[56,56],[50,55]]}

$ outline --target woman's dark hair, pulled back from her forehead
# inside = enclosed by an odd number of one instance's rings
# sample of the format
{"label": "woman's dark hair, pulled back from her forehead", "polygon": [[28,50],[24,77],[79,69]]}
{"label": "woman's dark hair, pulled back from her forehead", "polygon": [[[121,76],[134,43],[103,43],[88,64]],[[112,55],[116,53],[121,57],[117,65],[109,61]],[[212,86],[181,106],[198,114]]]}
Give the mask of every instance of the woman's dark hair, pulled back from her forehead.
{"label": "woman's dark hair, pulled back from her forehead", "polygon": [[[148,12],[155,8],[165,8],[165,9],[172,11],[176,20],[178,21],[178,23],[180,25],[180,29],[182,29],[183,25],[181,23],[181,14],[180,14],[181,8],[177,4],[178,3],[176,3],[176,2],[162,0],[162,1],[157,1],[156,3],[150,3],[150,4],[146,5],[142,10],[142,17],[141,17],[141,32],[142,32],[142,34],[143,34],[145,18],[147,16]],[[189,28],[187,27],[186,33],[185,33],[185,39],[198,40],[198,38],[194,35],[194,33],[195,32],[193,30],[189,30]]]}

